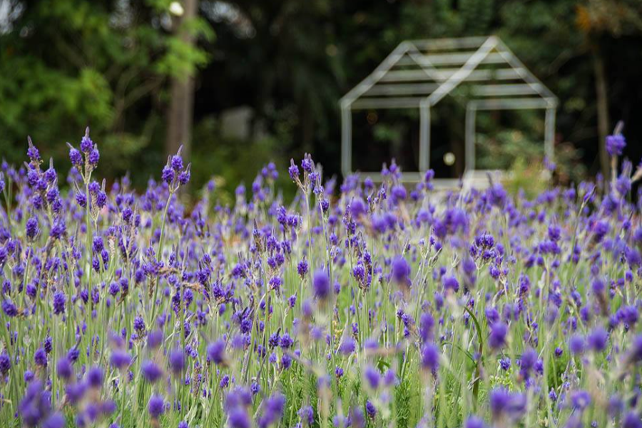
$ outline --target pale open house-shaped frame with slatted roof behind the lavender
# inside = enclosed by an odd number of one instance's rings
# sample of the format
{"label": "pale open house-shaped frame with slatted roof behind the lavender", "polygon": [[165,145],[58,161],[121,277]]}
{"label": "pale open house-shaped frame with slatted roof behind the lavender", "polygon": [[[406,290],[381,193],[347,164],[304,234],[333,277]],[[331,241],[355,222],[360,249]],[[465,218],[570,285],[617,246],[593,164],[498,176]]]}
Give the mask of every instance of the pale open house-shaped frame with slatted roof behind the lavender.
{"label": "pale open house-shaped frame with slatted roof behind the lavender", "polygon": [[[465,119],[465,170],[475,170],[477,111],[542,109],[544,153],[553,158],[556,96],[496,36],[403,41],[355,88],[341,98],[341,168],[352,173],[352,111],[419,109],[419,180],[430,167],[430,114],[462,83],[471,83]],[[363,172],[364,174],[375,174]]]}

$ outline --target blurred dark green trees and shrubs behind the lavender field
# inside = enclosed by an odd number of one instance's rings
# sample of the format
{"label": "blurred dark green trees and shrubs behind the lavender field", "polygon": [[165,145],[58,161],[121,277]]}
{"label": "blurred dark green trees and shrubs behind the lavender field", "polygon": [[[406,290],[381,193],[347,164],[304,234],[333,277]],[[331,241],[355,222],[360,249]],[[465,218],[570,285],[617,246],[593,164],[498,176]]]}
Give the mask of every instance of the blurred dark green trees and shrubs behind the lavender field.
{"label": "blurred dark green trees and shrubs behind the lavender field", "polygon": [[[487,34],[560,99],[559,180],[602,169],[618,120],[626,156],[642,157],[640,0],[0,0],[0,157],[23,161],[30,135],[65,170],[65,141],[89,125],[108,180],[132,171],[144,185],[180,143],[193,188],[212,175],[228,192],[249,186],[268,161],[286,180],[304,152],[340,175],[344,93],[404,39]],[[456,109],[436,109],[437,156],[463,156]],[[416,113],[386,114],[355,114],[376,165],[418,138]],[[480,115],[480,167],[528,169],[543,126],[539,113]]]}

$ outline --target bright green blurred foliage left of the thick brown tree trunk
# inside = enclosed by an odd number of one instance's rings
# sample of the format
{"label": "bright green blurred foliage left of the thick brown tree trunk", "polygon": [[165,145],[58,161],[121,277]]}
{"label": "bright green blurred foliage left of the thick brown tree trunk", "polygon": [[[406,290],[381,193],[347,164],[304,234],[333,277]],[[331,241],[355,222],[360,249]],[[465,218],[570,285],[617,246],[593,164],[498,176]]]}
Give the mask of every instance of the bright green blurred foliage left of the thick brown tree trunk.
{"label": "bright green blurred foliage left of the thick brown tree trunk", "polygon": [[[64,156],[61,139],[80,138],[88,124],[107,158],[101,173],[144,161],[164,133],[168,77],[189,76],[208,58],[170,32],[170,1],[2,1],[13,12],[0,29],[2,156],[21,159],[16,142],[27,134]],[[213,34],[205,21],[189,24],[193,36]]]}

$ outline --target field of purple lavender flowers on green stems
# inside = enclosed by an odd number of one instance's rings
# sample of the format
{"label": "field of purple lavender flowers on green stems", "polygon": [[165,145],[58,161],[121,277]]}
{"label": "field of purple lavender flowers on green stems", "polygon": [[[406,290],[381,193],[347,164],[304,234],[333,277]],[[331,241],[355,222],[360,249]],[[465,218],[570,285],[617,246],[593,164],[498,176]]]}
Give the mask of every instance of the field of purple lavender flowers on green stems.
{"label": "field of purple lavender flowers on green stems", "polygon": [[221,206],[183,205],[180,152],[136,193],[88,132],[68,177],[30,141],[0,175],[0,426],[642,427],[625,144],[534,200],[305,156]]}

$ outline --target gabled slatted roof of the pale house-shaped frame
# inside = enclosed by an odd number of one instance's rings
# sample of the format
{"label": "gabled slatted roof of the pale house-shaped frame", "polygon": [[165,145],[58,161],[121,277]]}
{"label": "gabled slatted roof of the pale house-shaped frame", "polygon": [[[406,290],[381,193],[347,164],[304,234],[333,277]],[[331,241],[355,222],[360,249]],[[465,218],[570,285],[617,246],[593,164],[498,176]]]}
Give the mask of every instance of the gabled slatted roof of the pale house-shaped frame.
{"label": "gabled slatted roof of the pale house-shaped frame", "polygon": [[341,98],[342,108],[434,106],[462,83],[479,108],[547,108],[557,99],[496,36],[404,41]]}

